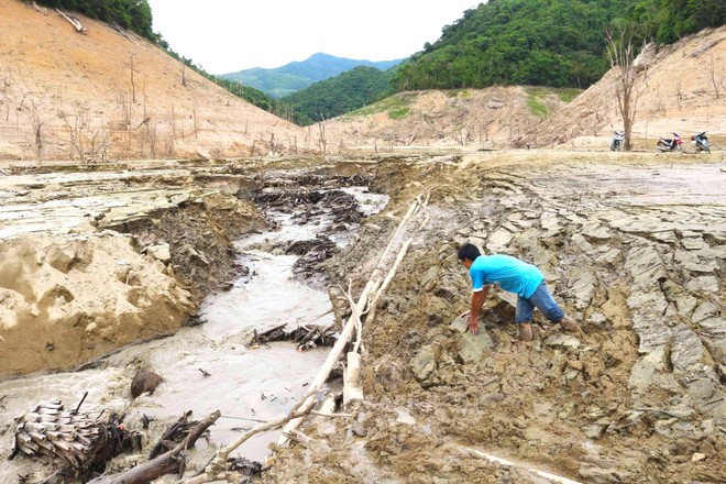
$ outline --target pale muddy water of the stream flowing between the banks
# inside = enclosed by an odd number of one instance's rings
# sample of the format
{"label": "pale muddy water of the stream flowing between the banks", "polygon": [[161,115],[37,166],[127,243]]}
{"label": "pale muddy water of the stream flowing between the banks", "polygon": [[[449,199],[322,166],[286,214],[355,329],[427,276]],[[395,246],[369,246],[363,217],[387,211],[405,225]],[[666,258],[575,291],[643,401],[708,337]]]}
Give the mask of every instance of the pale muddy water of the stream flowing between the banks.
{"label": "pale muddy water of the stream flowing between the banks", "polygon": [[[369,213],[381,209],[386,199],[352,190]],[[151,439],[170,421],[193,410],[202,418],[219,409],[222,414],[211,430],[210,443],[217,447],[237,439],[257,424],[285,415],[301,397],[327,356],[327,349],[298,352],[293,343],[272,343],[250,349],[246,343],[254,329],[264,330],[282,323],[324,324],[332,320],[327,294],[293,277],[297,257],[277,255],[265,248],[286,241],[311,239],[327,220],[294,226],[290,215],[273,215],[280,230],[257,234],[238,242],[242,262],[250,268],[248,280],[239,280],[231,290],[210,295],[201,308],[206,323],[183,328],[175,336],[136,344],[108,356],[100,369],[53,375],[30,375],[0,382],[0,459],[9,453],[11,437],[4,432],[13,417],[47,399],[62,399],[75,407],[84,392],[89,396],[87,410],[97,408],[125,413],[131,428],[141,427],[142,416],[151,418]],[[350,235],[350,232],[349,232]],[[344,237],[339,244],[344,244]],[[138,367],[150,367],[165,382],[152,396],[131,400],[130,383]],[[270,453],[267,444],[278,431],[250,439],[237,453],[262,461]],[[204,462],[211,448],[198,444],[197,462]],[[193,459],[195,459],[193,457]],[[16,459],[0,466],[0,482],[11,482],[18,473],[36,468],[32,461]]]}

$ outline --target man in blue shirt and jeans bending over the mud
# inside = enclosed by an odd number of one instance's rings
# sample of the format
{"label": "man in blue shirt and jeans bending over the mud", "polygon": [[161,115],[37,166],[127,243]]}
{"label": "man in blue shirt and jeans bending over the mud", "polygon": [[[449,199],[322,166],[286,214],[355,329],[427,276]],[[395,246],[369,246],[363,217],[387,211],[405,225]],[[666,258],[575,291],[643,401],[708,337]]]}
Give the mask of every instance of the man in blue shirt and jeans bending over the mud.
{"label": "man in blue shirt and jeans bending over the mud", "polygon": [[544,276],[534,265],[510,255],[482,255],[479,248],[470,243],[460,246],[458,255],[472,278],[474,293],[469,312],[469,331],[472,334],[479,332],[479,312],[493,284],[518,296],[515,322],[519,327],[521,341],[532,340],[531,319],[535,308],[542,311],[551,322],[562,324],[565,330],[582,333],[580,324],[565,316],[554,301]]}

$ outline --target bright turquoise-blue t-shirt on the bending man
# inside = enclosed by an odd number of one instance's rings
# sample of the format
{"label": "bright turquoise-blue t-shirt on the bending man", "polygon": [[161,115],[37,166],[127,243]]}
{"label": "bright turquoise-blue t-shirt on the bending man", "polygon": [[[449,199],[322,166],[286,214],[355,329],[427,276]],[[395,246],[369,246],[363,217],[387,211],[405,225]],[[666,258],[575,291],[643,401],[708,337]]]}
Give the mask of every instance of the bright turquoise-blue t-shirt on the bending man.
{"label": "bright turquoise-blue t-shirt on the bending man", "polygon": [[510,255],[480,255],[472,263],[469,274],[474,293],[488,284],[496,284],[524,298],[529,298],[544,280],[537,267]]}

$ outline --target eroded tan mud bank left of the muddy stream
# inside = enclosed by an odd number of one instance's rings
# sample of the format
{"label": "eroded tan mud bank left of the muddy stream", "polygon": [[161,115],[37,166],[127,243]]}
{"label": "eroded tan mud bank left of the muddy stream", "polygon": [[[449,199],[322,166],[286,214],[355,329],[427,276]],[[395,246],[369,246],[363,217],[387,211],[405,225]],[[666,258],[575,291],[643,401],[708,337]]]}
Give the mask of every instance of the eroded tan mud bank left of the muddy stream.
{"label": "eroded tan mud bank left of the muddy stream", "polygon": [[0,198],[0,377],[174,333],[244,271],[233,240],[265,226],[186,169],[7,176]]}

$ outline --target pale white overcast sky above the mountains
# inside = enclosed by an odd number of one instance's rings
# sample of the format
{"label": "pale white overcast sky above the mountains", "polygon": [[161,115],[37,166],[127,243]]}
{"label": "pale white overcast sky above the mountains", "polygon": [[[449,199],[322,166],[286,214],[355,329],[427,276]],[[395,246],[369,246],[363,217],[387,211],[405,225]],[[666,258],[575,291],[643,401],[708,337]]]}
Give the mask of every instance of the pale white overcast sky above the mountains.
{"label": "pale white overcast sky above the mountains", "polygon": [[312,54],[392,61],[436,42],[482,0],[148,0],[154,31],[210,74]]}

